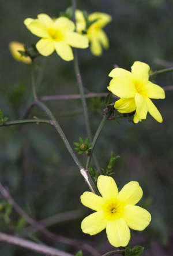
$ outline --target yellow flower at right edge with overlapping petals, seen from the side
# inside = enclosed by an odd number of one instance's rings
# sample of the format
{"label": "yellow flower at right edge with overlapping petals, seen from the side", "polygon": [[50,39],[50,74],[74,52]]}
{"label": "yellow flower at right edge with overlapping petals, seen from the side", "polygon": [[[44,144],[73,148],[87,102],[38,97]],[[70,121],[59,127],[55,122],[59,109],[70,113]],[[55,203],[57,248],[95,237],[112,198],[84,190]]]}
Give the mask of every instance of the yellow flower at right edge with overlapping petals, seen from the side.
{"label": "yellow flower at right edge with overlapping petals, seen from the side", "polygon": [[131,73],[122,68],[115,68],[109,74],[113,79],[108,90],[121,99],[115,102],[115,108],[121,113],[130,113],[136,110],[134,123],[146,119],[149,112],[161,123],[163,121],[160,112],[150,98],[165,98],[164,90],[148,81],[149,65],[135,61],[131,67]]}

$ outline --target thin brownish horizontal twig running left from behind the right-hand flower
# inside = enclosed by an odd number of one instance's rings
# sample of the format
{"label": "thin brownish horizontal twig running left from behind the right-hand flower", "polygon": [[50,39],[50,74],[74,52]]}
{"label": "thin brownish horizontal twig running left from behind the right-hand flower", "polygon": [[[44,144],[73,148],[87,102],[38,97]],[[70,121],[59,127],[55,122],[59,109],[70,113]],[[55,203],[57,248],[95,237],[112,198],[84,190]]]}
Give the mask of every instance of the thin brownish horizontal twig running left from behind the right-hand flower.
{"label": "thin brownish horizontal twig running left from behind the right-hand flower", "polygon": [[[85,98],[92,97],[106,97],[108,93],[86,93]],[[112,94],[113,98],[118,98],[115,94]],[[43,96],[41,100],[72,100],[81,98],[81,94],[65,94],[65,95],[54,95],[54,96]]]}

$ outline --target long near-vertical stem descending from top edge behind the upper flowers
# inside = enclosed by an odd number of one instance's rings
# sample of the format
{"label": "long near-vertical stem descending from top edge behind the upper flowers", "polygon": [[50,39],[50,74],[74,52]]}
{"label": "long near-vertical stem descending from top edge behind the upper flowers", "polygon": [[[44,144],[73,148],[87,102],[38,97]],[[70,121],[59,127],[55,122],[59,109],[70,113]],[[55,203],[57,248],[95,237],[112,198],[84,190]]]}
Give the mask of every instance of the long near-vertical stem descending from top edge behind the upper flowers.
{"label": "long near-vertical stem descending from top edge behind the upper flowers", "polygon": [[[72,6],[73,6],[73,22],[76,23],[76,19],[75,19],[76,0],[72,0]],[[86,133],[87,133],[87,136],[89,137],[89,141],[92,141],[91,126],[90,126],[90,123],[89,123],[88,108],[87,108],[87,105],[86,105],[84,86],[83,86],[83,83],[82,83],[80,69],[79,69],[79,66],[78,66],[77,49],[74,49],[74,71],[75,71],[75,74],[76,74],[77,83],[78,83],[78,87],[79,87],[80,94],[81,94],[82,107],[84,109]],[[101,174],[100,164],[99,164],[99,161],[97,159],[96,153],[93,154],[93,160],[95,162],[96,169]]]}

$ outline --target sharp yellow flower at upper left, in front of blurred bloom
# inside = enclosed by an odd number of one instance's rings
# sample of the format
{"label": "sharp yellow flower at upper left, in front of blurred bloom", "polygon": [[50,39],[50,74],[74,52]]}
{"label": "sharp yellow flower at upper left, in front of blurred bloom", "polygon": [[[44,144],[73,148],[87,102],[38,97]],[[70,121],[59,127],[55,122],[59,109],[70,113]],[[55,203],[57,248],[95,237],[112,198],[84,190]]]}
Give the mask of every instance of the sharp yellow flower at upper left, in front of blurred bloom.
{"label": "sharp yellow flower at upper left, in front of blurred bloom", "polygon": [[47,14],[39,14],[38,19],[28,18],[24,24],[32,34],[41,37],[36,44],[36,48],[43,56],[48,56],[54,50],[63,60],[73,60],[72,48],[88,47],[88,38],[74,32],[75,25],[73,21],[66,17],[59,17],[52,20]]}

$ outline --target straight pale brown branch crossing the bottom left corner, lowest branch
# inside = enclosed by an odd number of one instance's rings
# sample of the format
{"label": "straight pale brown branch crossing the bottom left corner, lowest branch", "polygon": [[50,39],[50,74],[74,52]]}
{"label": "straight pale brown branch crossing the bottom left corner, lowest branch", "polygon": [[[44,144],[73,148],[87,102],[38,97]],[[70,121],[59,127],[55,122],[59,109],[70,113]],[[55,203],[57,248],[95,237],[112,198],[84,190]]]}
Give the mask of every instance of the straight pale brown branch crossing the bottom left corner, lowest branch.
{"label": "straight pale brown branch crossing the bottom left corner, lowest branch", "polygon": [[26,239],[22,239],[16,236],[6,235],[5,233],[0,232],[0,241],[14,244],[16,246],[21,246],[27,248],[31,251],[36,251],[37,253],[47,254],[51,256],[74,256],[73,254],[65,253],[56,248],[52,248],[50,246],[44,246],[42,244],[37,244]]}

